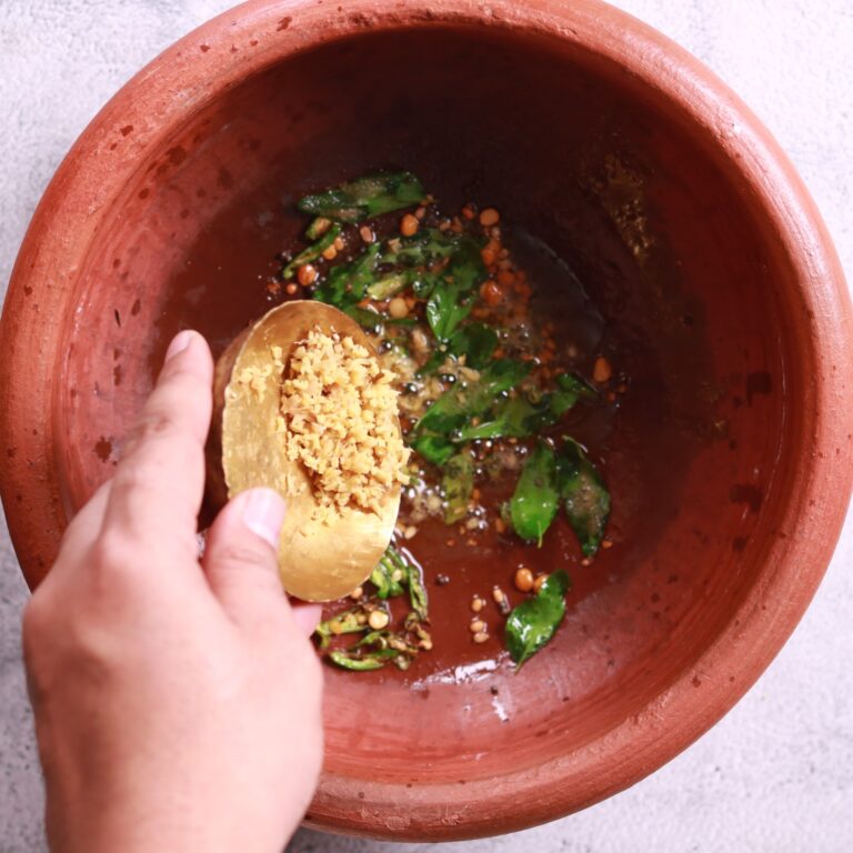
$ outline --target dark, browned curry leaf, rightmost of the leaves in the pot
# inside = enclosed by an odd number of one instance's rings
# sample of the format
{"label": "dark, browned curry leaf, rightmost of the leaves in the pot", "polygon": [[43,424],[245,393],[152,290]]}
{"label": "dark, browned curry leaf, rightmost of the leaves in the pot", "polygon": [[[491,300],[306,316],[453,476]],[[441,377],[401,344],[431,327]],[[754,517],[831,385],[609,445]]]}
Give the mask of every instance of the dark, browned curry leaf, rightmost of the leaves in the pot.
{"label": "dark, browned curry leaf, rightmost of the leaves in the pot", "polygon": [[556,465],[560,496],[581,551],[594,556],[610,518],[610,492],[583,448],[566,438]]}

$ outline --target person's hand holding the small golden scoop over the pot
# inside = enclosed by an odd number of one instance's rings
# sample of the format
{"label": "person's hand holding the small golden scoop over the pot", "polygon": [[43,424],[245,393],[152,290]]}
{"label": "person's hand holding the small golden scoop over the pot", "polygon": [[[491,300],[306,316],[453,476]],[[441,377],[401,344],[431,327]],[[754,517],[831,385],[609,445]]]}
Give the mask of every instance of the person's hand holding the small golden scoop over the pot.
{"label": "person's hand holding the small golden scoop over the pot", "polygon": [[24,612],[54,853],[279,853],[317,783],[319,609],[279,583],[283,501],[232,500],[199,564],[211,381],[182,332]]}

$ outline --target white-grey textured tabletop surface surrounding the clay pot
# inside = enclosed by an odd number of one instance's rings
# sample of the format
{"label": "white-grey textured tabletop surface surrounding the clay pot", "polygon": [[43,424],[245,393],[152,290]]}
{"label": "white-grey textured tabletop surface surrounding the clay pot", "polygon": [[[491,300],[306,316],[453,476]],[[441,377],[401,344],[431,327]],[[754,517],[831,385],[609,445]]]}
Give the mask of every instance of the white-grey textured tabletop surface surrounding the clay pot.
{"label": "white-grey textured tabletop surface surrounding the clay pot", "polygon": [[[87,122],[160,50],[229,6],[0,0],[3,288],[41,192]],[[681,42],[757,112],[805,178],[853,280],[853,0],[616,6]],[[0,853],[30,853],[44,850],[42,792],[19,661],[26,591],[4,526],[0,560]],[[410,845],[301,832],[290,853],[850,853],[851,569],[853,515],[814,604],[759,684],[704,739],[631,791],[499,839]]]}

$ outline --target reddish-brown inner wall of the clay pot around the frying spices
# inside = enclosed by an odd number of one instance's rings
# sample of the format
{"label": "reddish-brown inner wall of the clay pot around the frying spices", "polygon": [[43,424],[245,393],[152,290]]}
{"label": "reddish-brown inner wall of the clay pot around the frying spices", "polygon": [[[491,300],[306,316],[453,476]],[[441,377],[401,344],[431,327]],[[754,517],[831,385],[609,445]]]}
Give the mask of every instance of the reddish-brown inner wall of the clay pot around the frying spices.
{"label": "reddish-brown inner wall of the clay pot around the frying spices", "polygon": [[[195,328],[219,354],[274,303],[275,255],[304,227],[294,200],[378,168],[411,169],[446,209],[493,204],[550,245],[602,319],[578,331],[590,357],[630,378],[608,429],[580,436],[605,460],[615,544],[552,566],[574,589],[551,645],[518,673],[498,644],[473,646],[472,592],[510,589],[518,560],[448,549],[425,565],[453,570],[430,588],[435,652],[407,673],[327,671],[327,771],[407,791],[571,753],[690,669],[761,571],[796,378],[789,272],[733,165],[653,92],[534,34],[368,33],[222,93],[140,154],[66,328],[70,509],[110,475],[171,335]],[[543,297],[566,329],[578,292]]]}

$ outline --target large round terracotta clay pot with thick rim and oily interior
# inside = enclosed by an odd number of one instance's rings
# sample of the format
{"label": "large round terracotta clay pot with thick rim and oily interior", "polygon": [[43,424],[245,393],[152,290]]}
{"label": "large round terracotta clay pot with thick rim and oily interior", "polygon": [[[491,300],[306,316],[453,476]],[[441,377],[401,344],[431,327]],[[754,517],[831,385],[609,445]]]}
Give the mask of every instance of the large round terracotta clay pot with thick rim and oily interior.
{"label": "large round terracotta clay pot with thick rim and oily interior", "polygon": [[408,686],[327,679],[309,824],[506,832],[624,789],[719,720],[802,616],[850,495],[830,239],[754,116],[660,34],[593,0],[261,0],[182,39],[83,133],[21,249],[3,503],[34,585],[171,334],[221,352],[269,307],[292,200],[384,165],[553,245],[632,378],[606,470],[616,546],[578,570],[594,581],[544,652],[518,674],[462,655]]}

